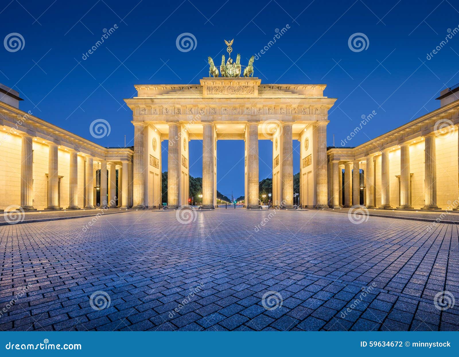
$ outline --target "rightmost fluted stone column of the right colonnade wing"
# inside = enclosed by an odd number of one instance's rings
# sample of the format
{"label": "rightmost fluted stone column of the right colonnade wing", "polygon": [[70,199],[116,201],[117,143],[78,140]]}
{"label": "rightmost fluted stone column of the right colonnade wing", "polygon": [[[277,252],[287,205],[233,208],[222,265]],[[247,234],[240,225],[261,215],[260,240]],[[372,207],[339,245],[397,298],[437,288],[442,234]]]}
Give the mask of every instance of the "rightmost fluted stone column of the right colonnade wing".
{"label": "rightmost fluted stone column of the right colonnade wing", "polygon": [[421,209],[439,209],[437,206],[437,152],[435,133],[424,136],[425,162],[425,205]]}

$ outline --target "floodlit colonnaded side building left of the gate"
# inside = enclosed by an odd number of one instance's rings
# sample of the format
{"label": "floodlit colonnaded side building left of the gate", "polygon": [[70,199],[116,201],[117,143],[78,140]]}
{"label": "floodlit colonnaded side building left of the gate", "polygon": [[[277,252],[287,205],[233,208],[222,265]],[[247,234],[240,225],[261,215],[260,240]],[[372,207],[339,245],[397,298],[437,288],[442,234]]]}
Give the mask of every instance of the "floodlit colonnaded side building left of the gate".
{"label": "floodlit colonnaded side building left of the gate", "polygon": [[132,206],[133,148],[92,143],[19,110],[21,100],[0,84],[0,211]]}

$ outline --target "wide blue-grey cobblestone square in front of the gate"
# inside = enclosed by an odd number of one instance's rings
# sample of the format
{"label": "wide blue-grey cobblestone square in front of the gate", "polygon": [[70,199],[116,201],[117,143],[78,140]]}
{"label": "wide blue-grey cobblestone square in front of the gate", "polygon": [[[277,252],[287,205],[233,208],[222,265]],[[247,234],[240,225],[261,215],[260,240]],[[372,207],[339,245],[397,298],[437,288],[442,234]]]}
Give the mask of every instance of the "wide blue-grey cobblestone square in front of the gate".
{"label": "wide blue-grey cobblestone square in front of the gate", "polygon": [[457,225],[245,209],[89,220],[0,227],[1,330],[459,329]]}

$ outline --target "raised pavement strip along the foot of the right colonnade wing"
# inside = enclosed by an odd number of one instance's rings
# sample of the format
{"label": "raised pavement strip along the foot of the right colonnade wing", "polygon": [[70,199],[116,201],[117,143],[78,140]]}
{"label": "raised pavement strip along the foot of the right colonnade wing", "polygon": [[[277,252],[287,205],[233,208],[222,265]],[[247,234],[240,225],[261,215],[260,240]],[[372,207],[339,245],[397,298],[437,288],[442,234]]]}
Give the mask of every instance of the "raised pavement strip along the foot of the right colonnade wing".
{"label": "raised pavement strip along the foot of the right colonnade wing", "polygon": [[[336,212],[336,213],[348,213],[355,209],[341,208],[341,209],[325,209],[327,211]],[[358,210],[358,209],[357,209]],[[459,224],[459,211],[424,211],[420,209],[416,210],[397,210],[397,209],[368,209],[368,214],[378,215],[385,217],[394,217],[394,218],[406,218],[412,220],[438,220],[441,223],[453,223]]]}

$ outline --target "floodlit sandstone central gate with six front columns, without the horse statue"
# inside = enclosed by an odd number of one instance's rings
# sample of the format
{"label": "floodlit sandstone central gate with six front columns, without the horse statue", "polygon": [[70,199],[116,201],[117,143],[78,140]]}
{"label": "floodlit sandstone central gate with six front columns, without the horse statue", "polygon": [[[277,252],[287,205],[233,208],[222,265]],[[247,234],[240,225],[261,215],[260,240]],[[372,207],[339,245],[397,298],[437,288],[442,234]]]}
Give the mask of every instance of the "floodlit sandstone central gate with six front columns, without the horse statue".
{"label": "floodlit sandstone central gate with six front columns, without the horse statue", "polygon": [[261,84],[258,78],[203,78],[199,85],[136,85],[133,111],[135,208],[161,197],[161,141],[168,140],[168,207],[188,203],[188,142],[202,140],[202,205],[217,192],[217,141],[244,140],[247,208],[257,209],[258,140],[273,142],[273,200],[293,208],[292,140],[301,141],[301,205],[328,206],[326,125],[336,99],[324,84]]}

